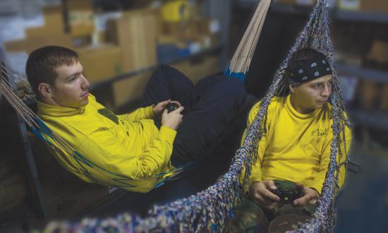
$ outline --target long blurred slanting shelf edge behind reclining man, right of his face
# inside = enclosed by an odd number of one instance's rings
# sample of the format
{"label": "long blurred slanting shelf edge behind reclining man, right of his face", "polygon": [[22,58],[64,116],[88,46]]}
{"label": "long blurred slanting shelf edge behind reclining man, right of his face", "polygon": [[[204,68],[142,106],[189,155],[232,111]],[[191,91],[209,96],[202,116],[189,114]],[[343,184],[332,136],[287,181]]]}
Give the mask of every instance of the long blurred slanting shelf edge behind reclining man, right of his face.
{"label": "long blurred slanting shelf edge behind reclining man, right of his face", "polygon": [[[204,49],[204,50],[202,50],[202,51],[200,51],[198,53],[190,54],[189,56],[184,56],[184,57],[181,57],[179,59],[172,59],[171,61],[167,61],[166,64],[173,64],[173,63],[176,63],[178,61],[186,61],[186,60],[198,57],[198,56],[205,56],[207,54],[213,54],[213,53],[216,53],[216,52],[220,52],[222,49],[223,49],[222,45],[219,45],[219,46],[216,46],[216,47],[212,47],[210,49]],[[159,66],[159,65],[160,64],[155,64],[153,66],[148,66],[148,67],[145,67],[145,68],[140,68],[140,69],[135,70],[135,71],[129,71],[129,72],[126,72],[126,73],[121,73],[118,76],[113,76],[113,77],[107,78],[105,80],[99,81],[97,83],[93,83],[92,85],[90,85],[90,90],[96,90],[96,89],[99,89],[99,88],[104,88],[107,85],[110,85],[111,83],[114,83],[116,81],[123,80],[125,78],[130,78],[130,77],[136,76],[136,75],[138,75],[140,73],[144,73],[144,72],[147,72],[147,71],[152,71],[154,68],[157,68],[157,66]]]}

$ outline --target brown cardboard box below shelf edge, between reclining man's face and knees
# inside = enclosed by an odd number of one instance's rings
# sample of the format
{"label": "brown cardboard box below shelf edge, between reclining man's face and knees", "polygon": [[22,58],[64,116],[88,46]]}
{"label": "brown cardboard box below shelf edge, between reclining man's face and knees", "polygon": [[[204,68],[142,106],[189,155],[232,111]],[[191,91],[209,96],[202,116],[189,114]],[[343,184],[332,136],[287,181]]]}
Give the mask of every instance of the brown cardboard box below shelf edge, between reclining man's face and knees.
{"label": "brown cardboard box below shelf edge, between reclining man's face and knees", "polygon": [[147,72],[115,82],[112,85],[115,107],[121,107],[128,102],[140,100],[143,97],[150,76],[151,73]]}

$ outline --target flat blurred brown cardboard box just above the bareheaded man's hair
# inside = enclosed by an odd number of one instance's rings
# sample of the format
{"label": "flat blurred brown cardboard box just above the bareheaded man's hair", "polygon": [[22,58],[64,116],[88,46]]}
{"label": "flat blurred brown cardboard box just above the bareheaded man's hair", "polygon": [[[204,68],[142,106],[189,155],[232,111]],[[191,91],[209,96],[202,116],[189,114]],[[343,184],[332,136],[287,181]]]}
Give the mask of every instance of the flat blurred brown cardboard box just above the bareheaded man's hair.
{"label": "flat blurred brown cardboard box just above the bareheaded man's hair", "polygon": [[47,46],[58,45],[63,47],[72,47],[72,41],[70,35],[44,35],[37,37],[29,37],[25,40],[14,40],[5,43],[6,51],[8,52],[27,52],[30,53],[33,50]]}

